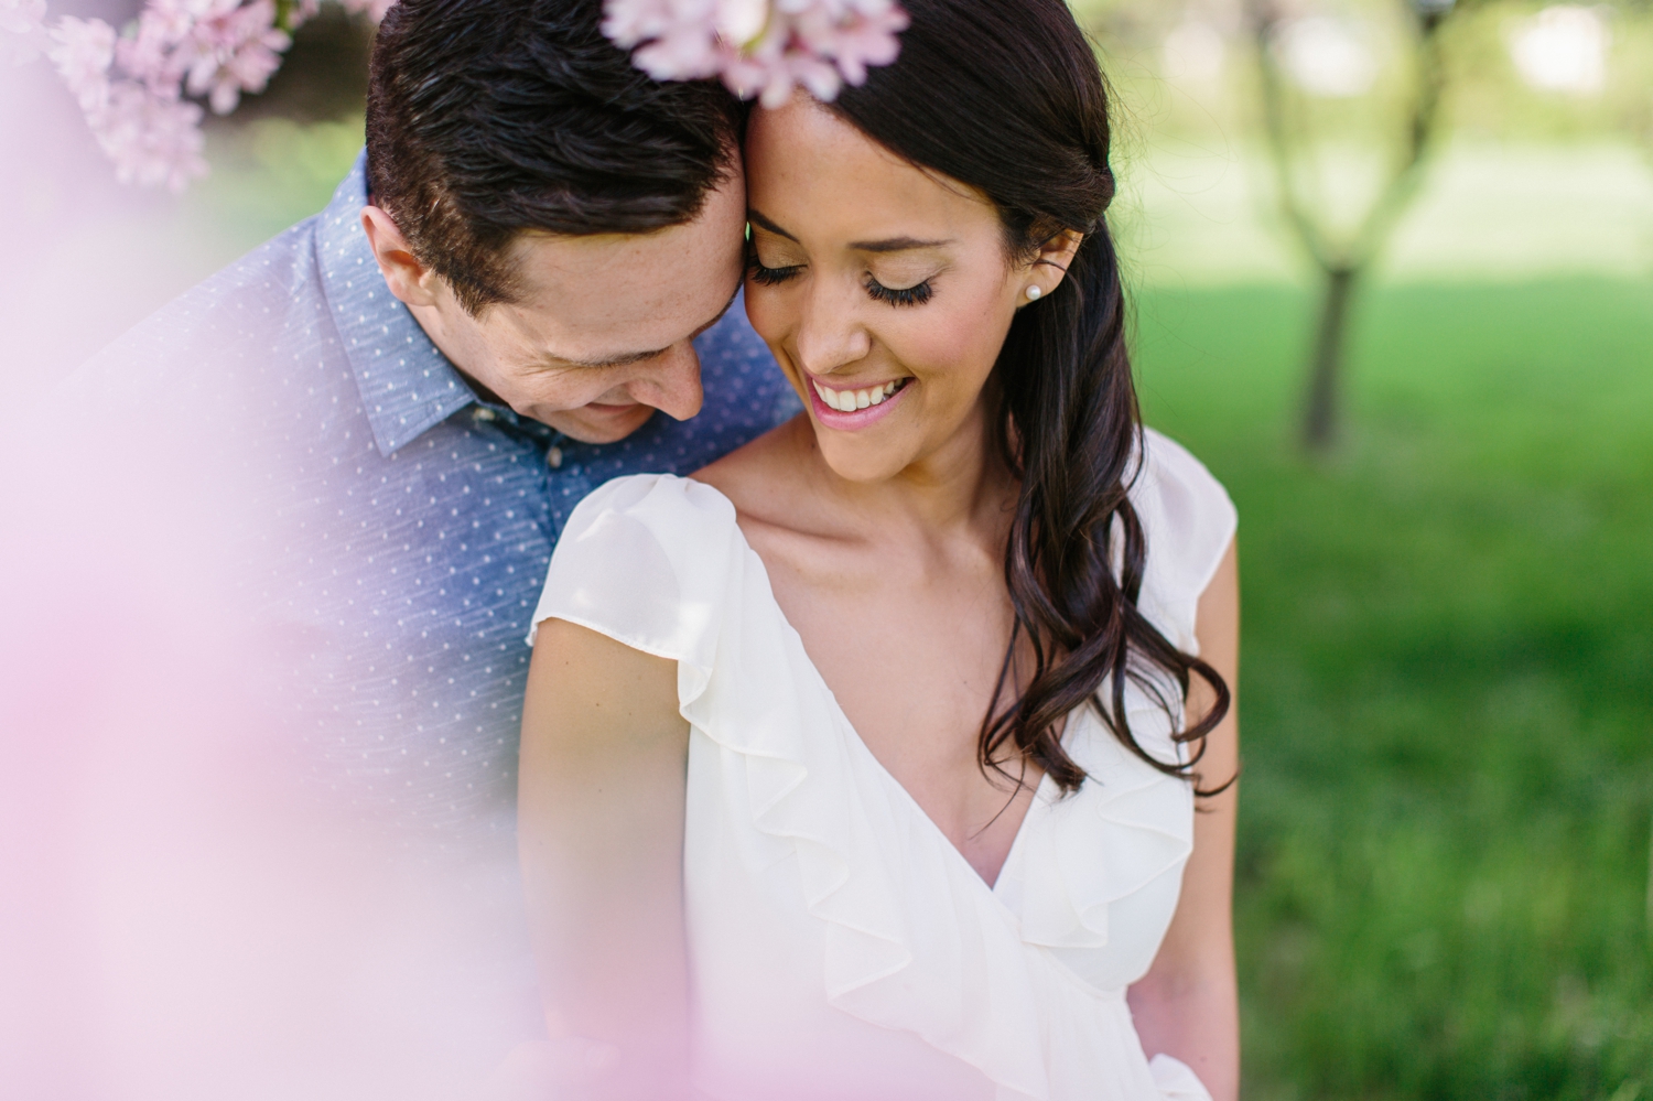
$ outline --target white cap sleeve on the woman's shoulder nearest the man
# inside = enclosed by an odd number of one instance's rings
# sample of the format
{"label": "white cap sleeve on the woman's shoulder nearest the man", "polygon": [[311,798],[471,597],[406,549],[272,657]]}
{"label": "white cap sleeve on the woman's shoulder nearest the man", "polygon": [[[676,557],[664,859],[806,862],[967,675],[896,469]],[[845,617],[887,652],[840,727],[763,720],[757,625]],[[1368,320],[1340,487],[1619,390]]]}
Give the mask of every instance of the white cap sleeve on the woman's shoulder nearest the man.
{"label": "white cap sleeve on the woman's shoulder nearest the man", "polygon": [[698,481],[603,483],[562,529],[529,645],[557,618],[660,658],[703,661],[737,531],[729,499]]}

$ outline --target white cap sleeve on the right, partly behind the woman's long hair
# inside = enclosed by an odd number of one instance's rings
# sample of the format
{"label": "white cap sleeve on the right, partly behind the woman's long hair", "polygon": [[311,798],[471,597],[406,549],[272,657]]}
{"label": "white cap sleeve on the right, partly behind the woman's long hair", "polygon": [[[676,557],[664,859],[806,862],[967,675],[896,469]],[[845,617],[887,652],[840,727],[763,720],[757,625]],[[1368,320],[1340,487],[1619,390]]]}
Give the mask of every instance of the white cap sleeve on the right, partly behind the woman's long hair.
{"label": "white cap sleeve on the right, partly behind the woman's long hair", "polygon": [[1228,491],[1182,445],[1146,428],[1142,451],[1142,473],[1131,488],[1147,539],[1137,607],[1179,650],[1198,655],[1195,608],[1240,517]]}

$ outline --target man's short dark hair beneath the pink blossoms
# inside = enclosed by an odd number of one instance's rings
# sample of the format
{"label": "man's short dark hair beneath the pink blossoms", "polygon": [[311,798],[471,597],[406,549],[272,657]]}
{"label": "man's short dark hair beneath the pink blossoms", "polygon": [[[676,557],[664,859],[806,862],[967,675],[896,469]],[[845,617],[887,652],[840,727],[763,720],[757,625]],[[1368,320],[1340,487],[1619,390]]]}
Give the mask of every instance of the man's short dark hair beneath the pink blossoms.
{"label": "man's short dark hair beneath the pink blossoms", "polygon": [[602,0],[402,0],[379,28],[374,203],[473,314],[516,298],[521,233],[681,225],[727,179],[741,102],[650,79],[600,23]]}

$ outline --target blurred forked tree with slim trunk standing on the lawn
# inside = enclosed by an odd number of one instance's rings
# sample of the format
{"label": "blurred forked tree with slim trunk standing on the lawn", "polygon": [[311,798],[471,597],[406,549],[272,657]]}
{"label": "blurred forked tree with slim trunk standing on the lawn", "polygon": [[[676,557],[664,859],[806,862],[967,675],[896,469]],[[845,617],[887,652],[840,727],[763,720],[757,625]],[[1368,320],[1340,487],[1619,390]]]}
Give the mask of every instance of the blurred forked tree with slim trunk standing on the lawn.
{"label": "blurred forked tree with slim trunk standing on the lawn", "polygon": [[[1304,91],[1291,88],[1286,71],[1294,30],[1278,0],[1246,0],[1248,26],[1256,45],[1258,88],[1261,91],[1263,129],[1274,167],[1281,213],[1291,235],[1321,273],[1321,309],[1309,357],[1308,393],[1304,398],[1303,441],[1311,451],[1332,446],[1339,430],[1339,403],[1347,347],[1349,312],[1355,289],[1372,266],[1402,212],[1417,195],[1430,149],[1440,122],[1446,68],[1441,58],[1441,26],[1458,10],[1476,0],[1410,0],[1410,50],[1413,53],[1410,88],[1405,96],[1398,155],[1390,164],[1375,197],[1351,230],[1332,225],[1326,210],[1304,193],[1303,160],[1316,141],[1314,127],[1303,109]],[[1299,20],[1304,23],[1306,20]],[[1331,46],[1331,48],[1329,48]],[[1314,58],[1336,55],[1336,43],[1309,46]],[[1324,81],[1331,94],[1349,94],[1360,84],[1357,56],[1324,64],[1314,73],[1296,74],[1298,84]],[[1308,79],[1304,79],[1308,78]],[[1354,79],[1355,84],[1349,84]],[[1339,84],[1342,81],[1342,84]]]}

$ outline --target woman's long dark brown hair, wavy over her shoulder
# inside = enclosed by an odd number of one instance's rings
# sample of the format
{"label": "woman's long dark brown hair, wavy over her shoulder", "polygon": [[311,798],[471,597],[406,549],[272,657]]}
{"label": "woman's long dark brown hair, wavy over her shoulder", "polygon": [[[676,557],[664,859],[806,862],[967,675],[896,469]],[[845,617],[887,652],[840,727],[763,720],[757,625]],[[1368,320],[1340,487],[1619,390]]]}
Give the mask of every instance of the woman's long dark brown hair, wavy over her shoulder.
{"label": "woman's long dark brown hair, wavy over her shoulder", "polygon": [[[1147,546],[1127,481],[1139,469],[1142,428],[1104,220],[1114,175],[1096,55],[1063,0],[903,7],[912,25],[899,60],[846,88],[831,109],[912,164],[987,195],[1012,256],[1030,260],[1065,230],[1084,235],[1061,284],[1017,312],[995,367],[998,440],[1022,491],[1005,552],[1015,630],[998,683],[998,699],[1012,703],[982,722],[982,767],[997,769],[1008,741],[1074,790],[1084,770],[1056,731],[1069,711],[1094,703],[1142,760],[1197,779],[1205,737],[1230,696],[1210,665],[1177,650],[1137,610]],[[1033,670],[1015,696],[1022,640]],[[1217,701],[1174,736],[1190,744],[1187,760],[1160,760],[1131,731],[1126,686],[1136,683],[1175,722],[1193,674]]]}

